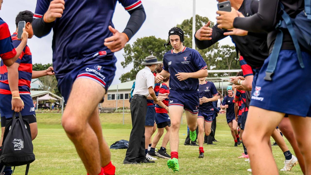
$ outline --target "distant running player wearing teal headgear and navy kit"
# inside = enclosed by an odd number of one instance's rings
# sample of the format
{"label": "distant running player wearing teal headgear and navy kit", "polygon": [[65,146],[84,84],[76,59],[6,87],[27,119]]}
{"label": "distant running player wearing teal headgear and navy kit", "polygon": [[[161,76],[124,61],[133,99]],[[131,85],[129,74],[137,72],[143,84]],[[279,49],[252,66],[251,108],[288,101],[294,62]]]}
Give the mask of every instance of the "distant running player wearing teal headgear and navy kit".
{"label": "distant running player wearing teal headgear and navy kit", "polygon": [[222,101],[221,109],[227,109],[226,111],[226,118],[227,123],[231,131],[231,135],[234,140],[234,146],[238,146],[241,144],[238,132],[238,122],[235,121],[235,114],[234,114],[234,97],[233,97],[233,90],[232,86],[227,87],[228,95]]}

